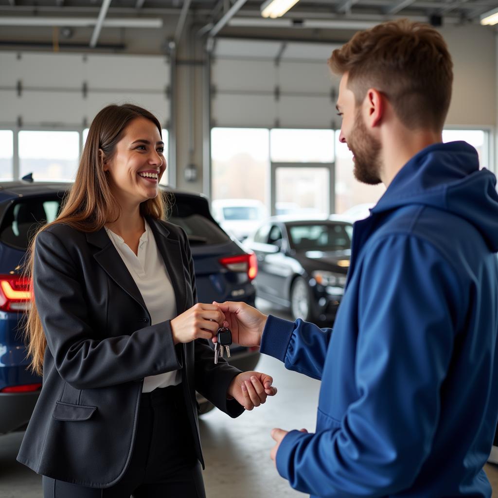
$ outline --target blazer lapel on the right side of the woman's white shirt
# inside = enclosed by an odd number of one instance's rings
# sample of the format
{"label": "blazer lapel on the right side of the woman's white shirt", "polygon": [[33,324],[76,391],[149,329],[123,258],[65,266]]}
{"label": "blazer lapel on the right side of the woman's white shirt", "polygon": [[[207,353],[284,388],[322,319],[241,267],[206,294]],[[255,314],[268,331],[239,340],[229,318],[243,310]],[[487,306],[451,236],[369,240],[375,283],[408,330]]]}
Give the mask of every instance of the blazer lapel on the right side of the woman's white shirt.
{"label": "blazer lapel on the right side of the woman's white shirt", "polygon": [[159,221],[147,216],[147,223],[152,229],[157,248],[168,270],[169,278],[175,292],[178,315],[186,310],[187,281],[183,271],[183,259],[180,242],[171,238],[169,230]]}

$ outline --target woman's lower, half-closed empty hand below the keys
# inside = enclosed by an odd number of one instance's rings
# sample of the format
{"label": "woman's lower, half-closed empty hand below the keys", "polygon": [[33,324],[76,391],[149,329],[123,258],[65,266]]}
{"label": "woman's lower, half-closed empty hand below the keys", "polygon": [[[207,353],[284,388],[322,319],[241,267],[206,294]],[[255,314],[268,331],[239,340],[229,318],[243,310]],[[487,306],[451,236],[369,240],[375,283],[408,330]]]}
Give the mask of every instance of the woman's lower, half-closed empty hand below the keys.
{"label": "woman's lower, half-closed empty hand below the keys", "polygon": [[246,410],[252,410],[274,396],[277,388],[272,387],[273,379],[261,372],[242,372],[235,376],[228,386],[227,394],[235,398]]}

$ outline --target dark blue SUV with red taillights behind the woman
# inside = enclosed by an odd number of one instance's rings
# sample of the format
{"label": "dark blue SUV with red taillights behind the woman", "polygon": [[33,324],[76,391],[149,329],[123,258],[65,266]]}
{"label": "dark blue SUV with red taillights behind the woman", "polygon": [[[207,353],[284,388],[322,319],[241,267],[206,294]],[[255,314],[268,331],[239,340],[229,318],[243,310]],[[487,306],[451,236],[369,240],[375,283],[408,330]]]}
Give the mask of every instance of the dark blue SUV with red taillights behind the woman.
{"label": "dark blue SUV with red taillights behind the woman", "polygon": [[[0,182],[0,434],[25,428],[41,389],[41,377],[26,370],[29,361],[19,325],[30,295],[20,265],[29,239],[40,225],[56,218],[70,186],[22,180]],[[230,299],[253,305],[255,256],[217,225],[204,196],[171,194],[174,204],[169,220],[188,235],[199,301]],[[234,344],[230,349],[232,365],[241,370],[255,368],[257,348]],[[200,413],[213,408],[199,394],[198,402]]]}

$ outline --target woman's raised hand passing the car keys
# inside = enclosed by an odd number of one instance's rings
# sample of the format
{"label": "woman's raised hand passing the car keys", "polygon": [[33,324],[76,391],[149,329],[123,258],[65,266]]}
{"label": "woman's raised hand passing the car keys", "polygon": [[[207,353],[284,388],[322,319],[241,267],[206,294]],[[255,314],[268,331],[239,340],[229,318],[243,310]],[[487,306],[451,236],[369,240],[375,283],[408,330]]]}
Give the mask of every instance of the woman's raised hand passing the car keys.
{"label": "woman's raised hand passing the car keys", "polygon": [[223,325],[225,314],[214,304],[197,303],[171,320],[173,342],[189,343],[194,339],[212,339]]}

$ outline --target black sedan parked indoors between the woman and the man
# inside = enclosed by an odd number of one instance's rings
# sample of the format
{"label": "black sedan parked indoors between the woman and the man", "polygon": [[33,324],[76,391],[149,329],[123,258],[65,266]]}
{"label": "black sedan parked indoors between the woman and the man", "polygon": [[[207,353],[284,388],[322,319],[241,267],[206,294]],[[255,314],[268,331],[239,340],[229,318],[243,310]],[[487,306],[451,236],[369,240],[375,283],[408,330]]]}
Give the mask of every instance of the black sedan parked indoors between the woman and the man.
{"label": "black sedan parked indoors between the woman and the man", "polygon": [[245,246],[257,256],[258,297],[294,319],[332,323],[344,294],[353,225],[329,219],[268,219]]}

